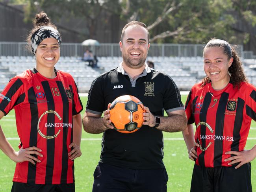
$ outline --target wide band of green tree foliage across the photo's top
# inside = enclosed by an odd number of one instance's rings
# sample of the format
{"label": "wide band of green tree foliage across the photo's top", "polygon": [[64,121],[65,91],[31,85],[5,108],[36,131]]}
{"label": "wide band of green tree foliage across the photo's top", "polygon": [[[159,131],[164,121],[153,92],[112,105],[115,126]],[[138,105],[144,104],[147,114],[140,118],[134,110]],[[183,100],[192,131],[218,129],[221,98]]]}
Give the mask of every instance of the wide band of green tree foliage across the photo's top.
{"label": "wide band of green tree foliage across the photo's top", "polygon": [[144,22],[150,41],[158,43],[202,43],[213,37],[235,43],[232,11],[256,25],[255,0],[28,0],[28,4],[26,18],[40,9],[54,18],[83,18],[90,38],[96,36],[97,22],[111,23],[102,18],[103,12],[124,23]]}

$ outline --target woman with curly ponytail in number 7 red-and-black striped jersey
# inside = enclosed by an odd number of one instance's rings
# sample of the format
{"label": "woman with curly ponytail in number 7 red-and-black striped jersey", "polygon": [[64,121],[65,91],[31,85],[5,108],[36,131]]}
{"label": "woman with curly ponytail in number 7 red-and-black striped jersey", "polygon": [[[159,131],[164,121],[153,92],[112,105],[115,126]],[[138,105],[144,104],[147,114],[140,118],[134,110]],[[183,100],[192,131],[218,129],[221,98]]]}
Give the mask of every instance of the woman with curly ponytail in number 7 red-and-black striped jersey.
{"label": "woman with curly ponytail in number 7 red-and-black striped jersey", "polygon": [[191,192],[252,192],[250,161],[256,146],[244,148],[251,120],[256,121],[256,88],[228,42],[211,39],[203,58],[206,77],[192,87],[185,105],[183,137],[195,161]]}

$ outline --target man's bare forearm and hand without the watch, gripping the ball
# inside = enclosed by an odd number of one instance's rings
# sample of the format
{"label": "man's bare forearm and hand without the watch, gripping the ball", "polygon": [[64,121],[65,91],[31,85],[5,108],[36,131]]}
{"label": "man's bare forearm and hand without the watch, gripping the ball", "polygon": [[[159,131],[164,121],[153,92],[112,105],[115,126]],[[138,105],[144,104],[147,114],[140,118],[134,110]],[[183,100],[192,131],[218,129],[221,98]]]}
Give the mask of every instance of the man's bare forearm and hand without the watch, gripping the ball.
{"label": "man's bare forearm and hand without the watch, gripping the ball", "polygon": [[[110,103],[108,104],[108,108]],[[101,118],[101,114],[93,114],[85,111],[83,116],[83,129],[87,133],[103,133],[107,129],[113,129],[114,127],[110,125],[111,120],[109,119],[109,109],[104,112],[104,117]]]}

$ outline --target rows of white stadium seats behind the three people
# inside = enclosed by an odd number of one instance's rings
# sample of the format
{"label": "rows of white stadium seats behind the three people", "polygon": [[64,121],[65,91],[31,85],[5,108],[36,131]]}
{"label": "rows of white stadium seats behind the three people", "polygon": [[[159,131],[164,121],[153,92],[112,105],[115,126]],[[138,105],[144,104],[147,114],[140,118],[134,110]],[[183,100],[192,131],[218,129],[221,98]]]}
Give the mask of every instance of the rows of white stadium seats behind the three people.
{"label": "rows of white stadium seats behind the three people", "polygon": [[[148,57],[156,70],[168,74],[180,90],[189,90],[205,76],[202,57]],[[99,68],[91,68],[78,57],[60,57],[58,70],[69,72],[75,79],[80,92],[88,92],[93,79],[119,65],[122,57],[98,57]],[[0,90],[13,76],[35,66],[32,56],[0,56]],[[254,67],[255,66],[255,67]],[[243,67],[249,82],[256,85],[256,59],[244,59]]]}

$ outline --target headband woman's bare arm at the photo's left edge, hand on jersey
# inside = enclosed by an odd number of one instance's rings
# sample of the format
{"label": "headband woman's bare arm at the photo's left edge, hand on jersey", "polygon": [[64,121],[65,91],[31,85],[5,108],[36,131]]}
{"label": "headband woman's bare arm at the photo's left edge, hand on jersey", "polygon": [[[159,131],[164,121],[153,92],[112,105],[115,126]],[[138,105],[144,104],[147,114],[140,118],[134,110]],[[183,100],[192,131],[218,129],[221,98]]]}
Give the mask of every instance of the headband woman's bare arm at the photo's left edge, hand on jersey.
{"label": "headband woman's bare arm at the photo's left edge, hand on jersey", "polygon": [[[2,119],[3,116],[4,116],[4,113],[0,111],[0,119]],[[29,147],[26,149],[21,148],[19,151],[15,151],[11,146],[11,144],[6,139],[1,126],[0,126],[0,149],[7,155],[7,157],[9,157],[11,160],[15,162],[29,161],[35,164],[35,161],[37,162],[41,162],[41,161],[36,157],[33,157],[32,154],[43,157],[43,155],[39,153],[42,150],[37,147]]]}

